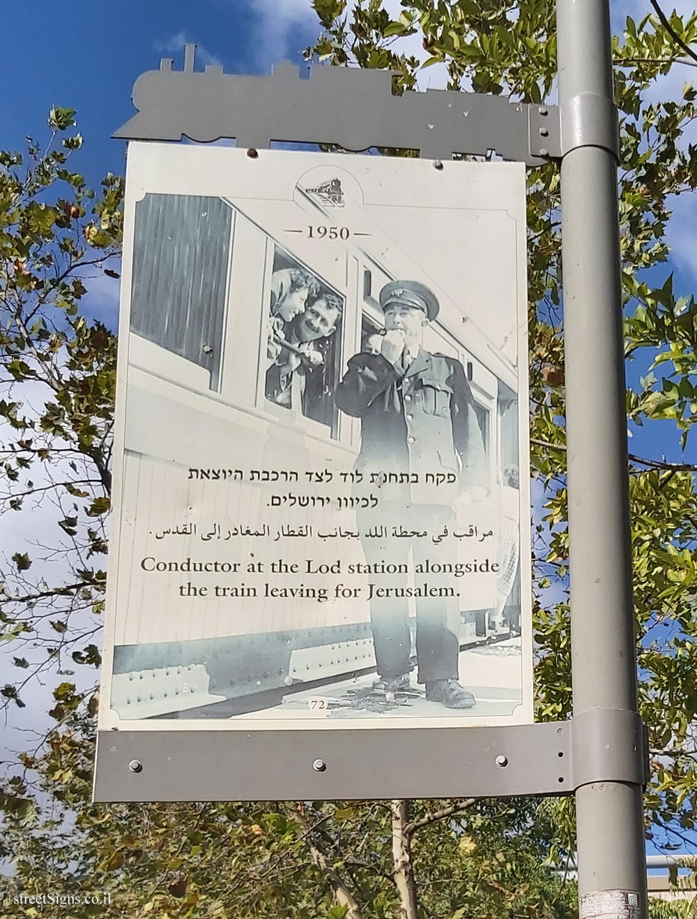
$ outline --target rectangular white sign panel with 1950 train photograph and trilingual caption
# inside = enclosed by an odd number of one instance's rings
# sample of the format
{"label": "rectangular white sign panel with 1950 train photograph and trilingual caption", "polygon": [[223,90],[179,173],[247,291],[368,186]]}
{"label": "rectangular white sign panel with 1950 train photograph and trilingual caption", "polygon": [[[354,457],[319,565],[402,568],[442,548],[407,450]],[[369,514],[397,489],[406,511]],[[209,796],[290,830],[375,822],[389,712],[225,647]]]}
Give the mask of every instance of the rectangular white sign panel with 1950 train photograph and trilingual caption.
{"label": "rectangular white sign panel with 1950 train photograph and trilingual caption", "polygon": [[100,744],[532,721],[524,166],[131,143],[125,220]]}

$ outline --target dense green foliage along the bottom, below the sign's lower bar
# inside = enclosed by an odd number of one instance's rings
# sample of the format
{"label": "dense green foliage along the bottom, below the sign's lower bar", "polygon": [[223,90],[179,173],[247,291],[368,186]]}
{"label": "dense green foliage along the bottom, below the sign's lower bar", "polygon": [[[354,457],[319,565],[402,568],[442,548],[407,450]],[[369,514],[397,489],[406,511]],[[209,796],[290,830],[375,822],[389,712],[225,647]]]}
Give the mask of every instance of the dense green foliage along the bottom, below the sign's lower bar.
{"label": "dense green foliage along the bottom, below the sign's lower bar", "polygon": [[[90,806],[94,748],[85,733],[91,724],[74,714],[48,758],[28,762],[27,784],[15,787],[17,800],[45,794],[53,803],[6,811],[0,855],[11,854],[16,868],[7,897],[110,891],[110,906],[95,911],[105,917],[337,919],[338,890],[356,903],[347,914],[398,914],[387,802]],[[439,809],[452,802],[412,807],[412,823],[422,823],[410,834],[420,916],[571,919],[575,887],[544,864],[549,802],[459,803],[449,819]],[[17,916],[11,902],[5,910],[0,919]]]}

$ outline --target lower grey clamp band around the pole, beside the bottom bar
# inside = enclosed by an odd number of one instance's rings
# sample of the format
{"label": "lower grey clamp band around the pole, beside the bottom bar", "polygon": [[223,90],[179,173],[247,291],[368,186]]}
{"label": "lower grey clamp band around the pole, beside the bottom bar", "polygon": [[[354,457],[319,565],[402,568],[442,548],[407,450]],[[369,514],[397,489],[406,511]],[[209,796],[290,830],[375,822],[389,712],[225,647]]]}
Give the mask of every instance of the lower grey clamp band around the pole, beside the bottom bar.
{"label": "lower grey clamp band around the pole, beside the bottom bar", "polygon": [[575,789],[596,782],[646,785],[648,744],[635,711],[590,709],[574,715],[571,726]]}

